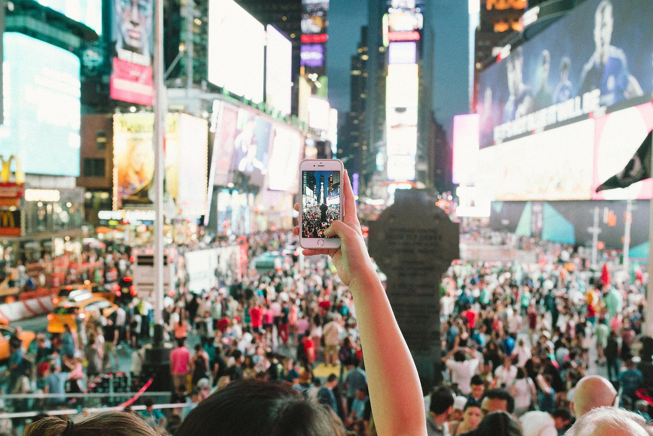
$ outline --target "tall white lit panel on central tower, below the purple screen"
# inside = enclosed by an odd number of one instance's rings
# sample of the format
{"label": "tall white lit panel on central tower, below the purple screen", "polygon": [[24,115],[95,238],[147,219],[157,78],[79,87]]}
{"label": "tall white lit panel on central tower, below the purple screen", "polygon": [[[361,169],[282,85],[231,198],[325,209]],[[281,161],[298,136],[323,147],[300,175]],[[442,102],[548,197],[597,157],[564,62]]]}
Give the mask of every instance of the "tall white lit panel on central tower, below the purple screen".
{"label": "tall white lit panel on central tower, below the purple screen", "polygon": [[416,63],[388,65],[385,122],[389,180],[415,179],[418,92]]}

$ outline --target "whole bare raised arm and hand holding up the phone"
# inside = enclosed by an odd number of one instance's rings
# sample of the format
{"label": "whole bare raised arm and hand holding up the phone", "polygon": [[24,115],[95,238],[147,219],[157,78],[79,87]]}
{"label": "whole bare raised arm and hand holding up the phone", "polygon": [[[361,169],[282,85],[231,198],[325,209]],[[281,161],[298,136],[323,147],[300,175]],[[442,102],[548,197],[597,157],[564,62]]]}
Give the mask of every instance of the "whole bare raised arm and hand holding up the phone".
{"label": "whole bare raised arm and hand holding up the phone", "polygon": [[[344,222],[334,221],[325,231],[325,236],[338,235],[342,246],[338,250],[304,250],[304,255],[330,255],[340,279],[354,297],[370,403],[379,436],[426,435],[424,399],[417,369],[367,252],[346,175],[343,182]],[[295,227],[295,234],[298,232]]]}

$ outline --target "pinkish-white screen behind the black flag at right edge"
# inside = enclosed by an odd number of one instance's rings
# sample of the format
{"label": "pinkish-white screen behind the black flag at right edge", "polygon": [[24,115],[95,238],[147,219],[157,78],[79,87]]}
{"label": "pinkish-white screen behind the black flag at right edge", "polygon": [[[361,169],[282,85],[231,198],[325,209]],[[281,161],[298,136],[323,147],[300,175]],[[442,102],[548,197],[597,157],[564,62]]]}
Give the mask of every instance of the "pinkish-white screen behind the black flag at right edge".
{"label": "pinkish-white screen behind the black flag at right edge", "polygon": [[595,192],[597,186],[626,167],[652,129],[652,103],[618,110],[596,119],[592,199],[650,199],[653,196],[653,179],[650,178],[628,188]]}

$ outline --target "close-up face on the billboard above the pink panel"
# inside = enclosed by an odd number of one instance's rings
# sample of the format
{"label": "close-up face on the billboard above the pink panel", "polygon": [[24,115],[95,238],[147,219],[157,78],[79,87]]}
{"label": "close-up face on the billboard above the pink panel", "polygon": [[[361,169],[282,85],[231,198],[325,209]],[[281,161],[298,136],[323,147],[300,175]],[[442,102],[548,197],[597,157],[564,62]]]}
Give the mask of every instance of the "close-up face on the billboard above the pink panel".
{"label": "close-up face on the billboard above the pink panel", "polygon": [[152,0],[113,0],[114,1],[114,35],[116,35],[116,53],[121,51],[141,55],[140,65],[150,65],[152,41]]}

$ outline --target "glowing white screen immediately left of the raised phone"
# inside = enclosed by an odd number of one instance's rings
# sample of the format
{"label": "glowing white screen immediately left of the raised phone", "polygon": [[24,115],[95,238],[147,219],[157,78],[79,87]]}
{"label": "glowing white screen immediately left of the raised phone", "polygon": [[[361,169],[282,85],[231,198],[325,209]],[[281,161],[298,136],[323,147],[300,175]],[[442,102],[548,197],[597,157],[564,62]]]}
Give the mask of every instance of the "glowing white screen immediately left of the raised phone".
{"label": "glowing white screen immediately left of the raised phone", "polygon": [[278,124],[274,125],[272,135],[272,153],[268,163],[268,189],[296,193],[304,138],[298,131]]}

